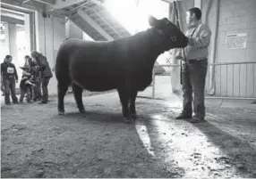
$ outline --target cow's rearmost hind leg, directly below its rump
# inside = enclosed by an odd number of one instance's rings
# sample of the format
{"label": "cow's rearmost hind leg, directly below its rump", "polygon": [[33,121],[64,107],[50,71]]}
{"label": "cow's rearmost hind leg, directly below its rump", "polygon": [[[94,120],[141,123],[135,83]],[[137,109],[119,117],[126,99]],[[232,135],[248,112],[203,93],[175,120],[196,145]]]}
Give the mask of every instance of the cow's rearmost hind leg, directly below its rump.
{"label": "cow's rearmost hind leg, directly below its rump", "polygon": [[58,82],[58,113],[59,115],[64,115],[64,95],[66,94],[66,91],[68,89],[70,83],[64,82]]}

